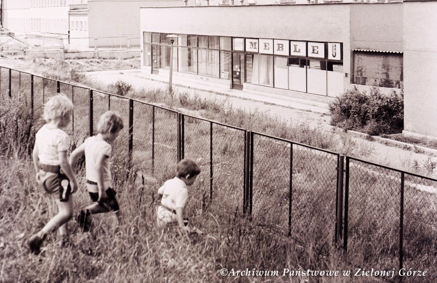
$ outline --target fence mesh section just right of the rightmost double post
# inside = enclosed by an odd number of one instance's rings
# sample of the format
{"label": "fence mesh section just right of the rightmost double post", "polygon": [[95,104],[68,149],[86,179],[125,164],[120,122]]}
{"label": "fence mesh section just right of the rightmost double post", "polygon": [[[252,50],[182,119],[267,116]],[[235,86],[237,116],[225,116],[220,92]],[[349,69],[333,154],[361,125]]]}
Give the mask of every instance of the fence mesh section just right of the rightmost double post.
{"label": "fence mesh section just right of the rightmost double post", "polygon": [[348,257],[368,267],[399,266],[401,174],[350,160]]}

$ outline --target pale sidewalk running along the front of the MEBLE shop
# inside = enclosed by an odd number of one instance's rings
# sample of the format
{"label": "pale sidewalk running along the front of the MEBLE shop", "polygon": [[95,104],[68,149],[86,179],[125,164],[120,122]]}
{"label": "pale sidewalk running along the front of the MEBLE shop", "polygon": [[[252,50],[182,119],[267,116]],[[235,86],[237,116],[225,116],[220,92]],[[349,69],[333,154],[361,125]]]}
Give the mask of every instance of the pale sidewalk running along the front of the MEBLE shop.
{"label": "pale sidewalk running along the front of the MEBLE shop", "polygon": [[[123,80],[131,84],[136,90],[164,89],[168,86],[167,77],[145,74],[140,70],[98,71],[86,74],[90,78],[108,85],[117,82],[117,80]],[[218,101],[226,99],[234,108],[242,108],[248,112],[255,110],[267,112],[290,124],[306,121],[310,127],[319,127],[326,131],[343,134],[339,129],[330,126],[328,105],[325,103],[255,91],[225,89],[208,85],[207,82],[177,76],[173,76],[173,89],[188,92],[189,95],[197,94],[201,97],[210,97]],[[426,162],[437,163],[437,150],[426,148],[418,150],[418,147],[383,138],[378,138],[379,141],[369,141],[365,139],[366,135],[357,132],[348,132],[348,135],[352,136],[357,143],[374,148],[374,154],[365,159],[376,164],[411,171],[408,168],[411,168],[413,164],[419,164],[421,167]],[[395,147],[394,144],[398,144],[398,147]],[[360,156],[356,157],[360,158]],[[431,177],[437,178],[436,170]]]}

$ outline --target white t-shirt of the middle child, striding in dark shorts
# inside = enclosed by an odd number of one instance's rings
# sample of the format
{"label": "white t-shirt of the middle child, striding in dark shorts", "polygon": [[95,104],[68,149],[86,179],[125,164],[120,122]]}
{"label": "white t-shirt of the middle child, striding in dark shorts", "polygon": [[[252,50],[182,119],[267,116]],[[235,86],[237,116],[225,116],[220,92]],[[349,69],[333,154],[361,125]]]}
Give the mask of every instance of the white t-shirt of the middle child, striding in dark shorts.
{"label": "white t-shirt of the middle child, striding in dark shorts", "polygon": [[112,146],[104,139],[97,136],[90,136],[85,139],[83,146],[85,147],[85,168],[87,180],[97,183],[96,160],[98,155],[103,154],[107,156],[102,161],[103,181],[105,189],[111,187],[111,164],[110,157],[112,153]]}

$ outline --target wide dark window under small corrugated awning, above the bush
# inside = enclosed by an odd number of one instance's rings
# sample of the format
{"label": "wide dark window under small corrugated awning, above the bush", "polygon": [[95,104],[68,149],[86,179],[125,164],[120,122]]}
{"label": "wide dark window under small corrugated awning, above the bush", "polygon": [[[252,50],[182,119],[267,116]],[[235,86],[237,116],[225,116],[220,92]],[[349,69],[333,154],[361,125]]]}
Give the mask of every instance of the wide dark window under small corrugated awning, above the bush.
{"label": "wide dark window under small corrugated awning, above the bush", "polygon": [[386,88],[400,88],[402,81],[402,54],[382,52],[354,52],[354,84]]}

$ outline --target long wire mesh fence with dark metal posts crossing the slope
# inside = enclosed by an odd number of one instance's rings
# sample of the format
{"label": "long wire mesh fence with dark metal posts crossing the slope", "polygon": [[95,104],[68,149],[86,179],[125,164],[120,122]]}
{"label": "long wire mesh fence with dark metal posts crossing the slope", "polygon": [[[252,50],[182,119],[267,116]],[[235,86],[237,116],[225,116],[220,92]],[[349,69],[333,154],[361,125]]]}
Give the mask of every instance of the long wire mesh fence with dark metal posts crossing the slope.
{"label": "long wire mesh fence with dark metal posts crossing the slope", "polygon": [[34,117],[65,93],[75,105],[67,129],[75,144],[95,133],[104,111],[119,112],[126,127],[114,146],[115,181],[164,180],[177,160],[197,160],[203,173],[189,215],[216,206],[219,216],[237,211],[302,244],[312,239],[320,253],[339,241],[369,267],[435,271],[436,179],[352,157],[344,164],[338,153],[8,68],[0,67],[0,91],[2,102],[24,99]]}

